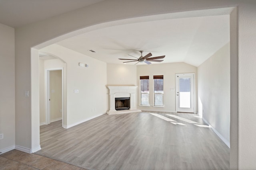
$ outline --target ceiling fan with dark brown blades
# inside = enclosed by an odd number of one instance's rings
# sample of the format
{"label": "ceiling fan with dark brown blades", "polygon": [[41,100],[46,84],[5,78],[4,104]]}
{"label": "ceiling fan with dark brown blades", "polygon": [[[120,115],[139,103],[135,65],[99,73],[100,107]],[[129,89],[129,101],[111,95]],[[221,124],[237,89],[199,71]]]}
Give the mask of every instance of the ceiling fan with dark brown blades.
{"label": "ceiling fan with dark brown blades", "polygon": [[[151,56],[152,56],[151,53],[148,53],[147,55],[145,55],[145,56],[143,57],[143,56],[142,56],[143,51],[140,51],[140,53],[141,53],[140,58],[137,58],[137,57],[134,57],[134,56],[130,55],[130,56],[136,58],[136,60],[135,60],[135,59],[119,59],[119,60],[132,60],[132,61],[126,61],[126,62],[123,62],[123,63],[129,63],[129,62],[137,61],[136,64],[138,64],[138,63],[143,63],[143,62],[146,63],[146,64],[151,64],[150,62],[152,62],[152,61],[154,61],[154,62],[161,62],[161,61],[164,61],[164,60],[156,60],[156,59],[163,59],[163,58],[165,57],[165,55],[158,56],[158,57],[151,57]],[[129,55],[129,54],[128,54],[128,55]],[[148,58],[148,57],[151,57],[151,58]]]}

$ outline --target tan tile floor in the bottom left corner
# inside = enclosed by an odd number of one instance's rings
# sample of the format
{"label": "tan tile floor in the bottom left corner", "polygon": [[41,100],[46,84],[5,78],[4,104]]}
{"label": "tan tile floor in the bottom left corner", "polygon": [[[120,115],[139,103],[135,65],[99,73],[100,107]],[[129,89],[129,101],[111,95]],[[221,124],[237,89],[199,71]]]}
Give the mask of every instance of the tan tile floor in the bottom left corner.
{"label": "tan tile floor in the bottom left corner", "polygon": [[86,170],[38,154],[11,150],[0,154],[0,170]]}

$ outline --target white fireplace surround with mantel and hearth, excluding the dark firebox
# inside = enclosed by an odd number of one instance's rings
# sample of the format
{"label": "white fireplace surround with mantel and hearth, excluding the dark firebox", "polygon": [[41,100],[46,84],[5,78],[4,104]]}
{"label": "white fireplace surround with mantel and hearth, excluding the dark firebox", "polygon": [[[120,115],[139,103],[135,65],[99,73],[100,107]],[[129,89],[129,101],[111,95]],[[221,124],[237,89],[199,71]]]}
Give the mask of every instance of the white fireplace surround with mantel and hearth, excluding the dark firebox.
{"label": "white fireplace surround with mantel and hearth, excluding the dark firebox", "polygon": [[[109,115],[140,112],[136,109],[136,92],[137,86],[107,86],[109,89]],[[115,98],[127,98],[130,97],[130,109],[128,110],[116,110]]]}

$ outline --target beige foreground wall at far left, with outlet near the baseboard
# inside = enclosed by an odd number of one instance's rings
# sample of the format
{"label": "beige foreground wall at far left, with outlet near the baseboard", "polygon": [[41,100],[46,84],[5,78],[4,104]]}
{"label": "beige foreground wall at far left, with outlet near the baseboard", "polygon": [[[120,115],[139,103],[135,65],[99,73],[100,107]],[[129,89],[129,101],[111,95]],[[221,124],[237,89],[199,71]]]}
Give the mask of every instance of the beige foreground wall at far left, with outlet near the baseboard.
{"label": "beige foreground wall at far left, with outlet near the baseboard", "polygon": [[0,152],[15,145],[14,28],[0,23]]}

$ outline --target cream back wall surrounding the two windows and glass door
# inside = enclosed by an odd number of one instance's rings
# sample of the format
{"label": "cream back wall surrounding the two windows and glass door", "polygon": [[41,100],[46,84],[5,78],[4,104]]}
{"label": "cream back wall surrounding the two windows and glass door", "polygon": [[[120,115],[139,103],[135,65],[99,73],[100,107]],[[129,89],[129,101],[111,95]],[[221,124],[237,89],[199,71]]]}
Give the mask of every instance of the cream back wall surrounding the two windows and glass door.
{"label": "cream back wall surrounding the two windows and glass door", "polygon": [[[137,66],[137,84],[140,86],[140,76],[149,76],[149,104],[150,106],[137,106],[140,110],[176,112],[176,76],[178,73],[195,73],[194,112],[197,112],[197,68],[186,63],[166,63]],[[164,75],[164,107],[153,106],[153,76]],[[137,90],[137,103],[140,102],[140,87]]]}

